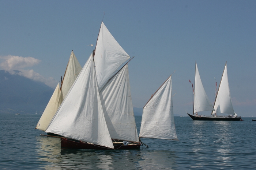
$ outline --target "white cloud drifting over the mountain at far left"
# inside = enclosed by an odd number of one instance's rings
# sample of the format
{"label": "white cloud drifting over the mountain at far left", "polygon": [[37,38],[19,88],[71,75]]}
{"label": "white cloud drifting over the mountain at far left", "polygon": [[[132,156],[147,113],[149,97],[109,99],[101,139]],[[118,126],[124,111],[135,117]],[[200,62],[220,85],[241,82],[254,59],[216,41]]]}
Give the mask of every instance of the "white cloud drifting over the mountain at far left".
{"label": "white cloud drifting over the mountain at far left", "polygon": [[[26,67],[32,67],[41,62],[41,60],[35,59],[33,57],[20,57],[20,56],[0,56],[0,59],[4,60],[0,63],[0,67],[3,70],[10,72],[11,74],[18,74],[20,76],[24,76],[26,78],[43,82],[47,86],[55,88],[57,81],[52,78],[45,78],[34,70],[25,70]],[[15,72],[13,70],[18,70],[20,72]]]}

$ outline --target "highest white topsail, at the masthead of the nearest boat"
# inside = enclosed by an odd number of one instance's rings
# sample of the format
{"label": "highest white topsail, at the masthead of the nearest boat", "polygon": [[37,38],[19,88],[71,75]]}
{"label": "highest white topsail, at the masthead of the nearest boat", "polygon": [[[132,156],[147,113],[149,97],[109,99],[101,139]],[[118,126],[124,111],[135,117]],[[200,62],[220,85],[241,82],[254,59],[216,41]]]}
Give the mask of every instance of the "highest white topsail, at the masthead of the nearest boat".
{"label": "highest white topsail, at the masthead of the nearest boat", "polygon": [[102,22],[94,54],[99,90],[129,58]]}

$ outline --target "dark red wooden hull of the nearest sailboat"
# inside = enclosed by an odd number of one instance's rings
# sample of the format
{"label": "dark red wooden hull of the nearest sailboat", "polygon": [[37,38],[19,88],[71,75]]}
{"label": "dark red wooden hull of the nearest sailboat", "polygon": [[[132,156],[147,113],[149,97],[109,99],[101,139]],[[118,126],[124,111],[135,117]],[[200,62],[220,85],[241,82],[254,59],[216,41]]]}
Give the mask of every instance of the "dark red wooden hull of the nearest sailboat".
{"label": "dark red wooden hull of the nearest sailboat", "polygon": [[[113,150],[108,147],[85,143],[74,139],[60,138],[61,149],[96,149],[96,150]],[[134,145],[114,144],[114,149],[140,149],[140,143]]]}

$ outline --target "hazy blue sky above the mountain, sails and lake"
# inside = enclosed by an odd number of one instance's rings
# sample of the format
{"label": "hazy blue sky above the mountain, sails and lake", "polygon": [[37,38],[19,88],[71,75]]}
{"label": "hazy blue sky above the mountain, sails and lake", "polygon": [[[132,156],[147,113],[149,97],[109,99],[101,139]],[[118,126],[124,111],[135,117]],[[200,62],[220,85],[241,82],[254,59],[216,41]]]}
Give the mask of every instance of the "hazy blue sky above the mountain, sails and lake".
{"label": "hazy blue sky above the mountain, sails and lake", "polygon": [[192,113],[188,80],[194,83],[195,61],[213,103],[215,81],[218,86],[227,61],[235,112],[256,117],[255,0],[0,0],[0,69],[20,70],[55,88],[72,50],[85,64],[102,18],[117,42],[135,56],[129,63],[133,107],[144,107],[176,70],[174,113]]}

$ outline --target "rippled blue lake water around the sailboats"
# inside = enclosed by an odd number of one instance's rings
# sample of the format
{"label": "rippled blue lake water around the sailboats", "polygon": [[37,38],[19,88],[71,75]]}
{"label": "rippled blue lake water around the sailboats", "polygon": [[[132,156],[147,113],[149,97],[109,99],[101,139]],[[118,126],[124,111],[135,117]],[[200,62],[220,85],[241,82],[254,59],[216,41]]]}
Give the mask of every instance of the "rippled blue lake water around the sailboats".
{"label": "rippled blue lake water around the sailboats", "polygon": [[[140,150],[61,150],[34,129],[41,115],[0,114],[0,169],[256,169],[256,122],[174,117],[179,141],[142,139]],[[139,132],[141,117],[136,116]]]}

